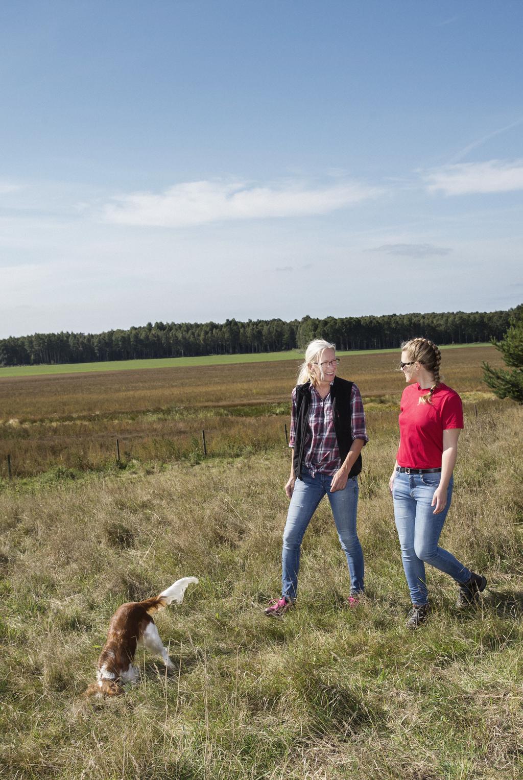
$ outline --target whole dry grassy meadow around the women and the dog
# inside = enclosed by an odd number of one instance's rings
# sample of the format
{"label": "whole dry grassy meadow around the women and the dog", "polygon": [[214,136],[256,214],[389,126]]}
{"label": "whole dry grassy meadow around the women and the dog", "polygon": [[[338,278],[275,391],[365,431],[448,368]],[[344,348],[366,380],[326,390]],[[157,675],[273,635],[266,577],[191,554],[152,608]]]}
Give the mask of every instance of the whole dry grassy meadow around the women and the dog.
{"label": "whole dry grassy meadow around the women and the dog", "polygon": [[[403,386],[392,356],[340,367],[367,402],[359,534],[368,597],[345,608],[345,556],[323,502],[303,545],[299,605],[284,619],[265,618],[263,606],[280,592],[282,428],[295,363],[0,382],[2,446],[12,431],[10,451],[26,442],[28,458],[0,482],[0,775],[521,777],[523,410],[486,393],[479,363],[496,353],[485,349],[443,356],[466,427],[442,544],[489,587],[460,613],[454,583],[429,569],[433,614],[414,633],[387,490]],[[157,441],[171,431],[190,444],[213,422],[223,427],[207,459],[197,442],[174,456],[147,444],[151,426]],[[125,467],[101,448],[86,457],[124,426],[144,434],[129,436],[129,449],[139,444]],[[55,449],[54,429],[63,437]],[[218,433],[235,449],[221,451]],[[68,466],[75,442],[83,459]],[[186,575],[200,584],[157,616],[174,671],[141,654],[140,683],[124,697],[85,700],[115,608]]]}

